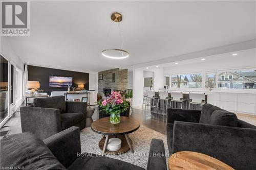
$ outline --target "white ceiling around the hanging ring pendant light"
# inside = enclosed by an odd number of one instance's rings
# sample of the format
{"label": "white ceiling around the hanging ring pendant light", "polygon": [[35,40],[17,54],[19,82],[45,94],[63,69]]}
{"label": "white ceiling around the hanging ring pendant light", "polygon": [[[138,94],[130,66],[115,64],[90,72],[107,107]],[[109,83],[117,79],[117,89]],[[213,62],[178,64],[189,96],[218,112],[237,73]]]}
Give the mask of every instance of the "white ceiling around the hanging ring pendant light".
{"label": "white ceiling around the hanging ring pendant light", "polygon": [[[255,1],[31,1],[31,33],[6,37],[30,65],[96,72],[256,39]],[[105,58],[120,47],[130,57]],[[110,37],[106,42],[108,30]],[[2,41],[2,43],[5,43]]]}

